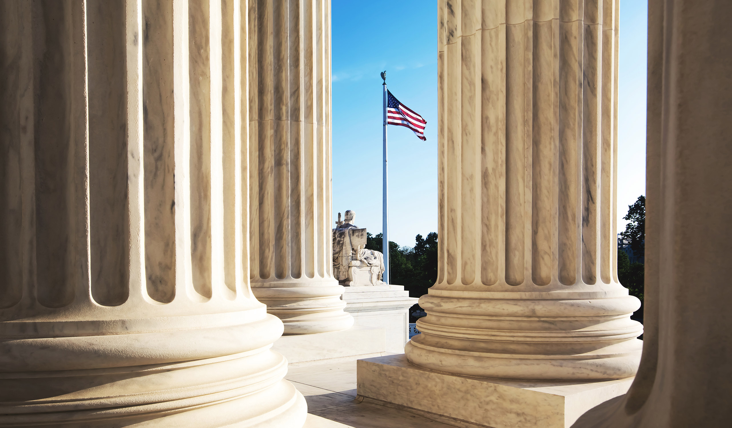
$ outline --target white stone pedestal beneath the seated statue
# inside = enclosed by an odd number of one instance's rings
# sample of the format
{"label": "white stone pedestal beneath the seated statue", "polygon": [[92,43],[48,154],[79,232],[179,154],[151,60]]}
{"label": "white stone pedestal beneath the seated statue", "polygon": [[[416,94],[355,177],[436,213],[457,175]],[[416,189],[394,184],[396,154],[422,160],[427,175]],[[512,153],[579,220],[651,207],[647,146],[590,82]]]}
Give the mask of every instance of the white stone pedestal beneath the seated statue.
{"label": "white stone pedestal beneath the seated statue", "polygon": [[348,286],[343,293],[346,312],[356,326],[384,329],[386,351],[402,354],[409,337],[409,308],[417,303],[404,286]]}

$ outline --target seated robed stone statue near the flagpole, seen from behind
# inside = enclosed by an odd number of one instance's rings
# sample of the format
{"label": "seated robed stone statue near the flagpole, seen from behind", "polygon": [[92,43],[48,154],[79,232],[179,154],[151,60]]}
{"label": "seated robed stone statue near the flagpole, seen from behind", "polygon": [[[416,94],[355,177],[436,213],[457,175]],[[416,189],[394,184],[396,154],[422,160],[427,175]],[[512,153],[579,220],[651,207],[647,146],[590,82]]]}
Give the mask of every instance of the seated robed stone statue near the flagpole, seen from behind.
{"label": "seated robed stone statue near the flagpole, seen from behind", "polygon": [[333,275],[343,286],[381,286],[386,285],[384,275],[384,255],[378,251],[367,250],[366,229],[354,224],[356,213],[346,211],[344,221],[338,221],[333,229]]}

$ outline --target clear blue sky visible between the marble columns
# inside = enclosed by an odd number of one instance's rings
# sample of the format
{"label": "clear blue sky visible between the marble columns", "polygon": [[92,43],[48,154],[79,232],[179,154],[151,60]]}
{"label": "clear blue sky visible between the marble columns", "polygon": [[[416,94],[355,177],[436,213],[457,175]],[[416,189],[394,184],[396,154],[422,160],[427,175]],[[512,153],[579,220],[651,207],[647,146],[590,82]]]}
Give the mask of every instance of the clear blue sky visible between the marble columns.
{"label": "clear blue sky visible between the marble columns", "polygon": [[[646,9],[620,2],[619,230],[645,194]],[[437,231],[437,2],[332,0],[333,220],[381,232],[381,77],[427,121],[426,142],[389,126],[389,240]],[[335,225],[335,223],[334,223]]]}

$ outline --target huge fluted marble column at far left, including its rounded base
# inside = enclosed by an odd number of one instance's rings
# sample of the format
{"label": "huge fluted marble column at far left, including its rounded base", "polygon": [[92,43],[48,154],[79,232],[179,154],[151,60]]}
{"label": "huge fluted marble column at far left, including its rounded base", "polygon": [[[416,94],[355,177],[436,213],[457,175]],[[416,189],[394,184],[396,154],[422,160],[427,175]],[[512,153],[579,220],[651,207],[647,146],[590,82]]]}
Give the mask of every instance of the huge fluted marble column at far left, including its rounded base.
{"label": "huge fluted marble column at far left, including its rounded base", "polygon": [[304,424],[249,286],[248,13],[0,2],[0,425]]}

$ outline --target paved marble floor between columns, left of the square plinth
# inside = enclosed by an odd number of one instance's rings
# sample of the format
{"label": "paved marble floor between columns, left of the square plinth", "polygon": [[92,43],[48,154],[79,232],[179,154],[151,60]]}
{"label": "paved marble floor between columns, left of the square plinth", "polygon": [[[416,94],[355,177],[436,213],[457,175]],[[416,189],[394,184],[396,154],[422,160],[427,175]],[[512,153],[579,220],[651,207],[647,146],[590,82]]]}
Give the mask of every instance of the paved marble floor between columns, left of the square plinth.
{"label": "paved marble floor between columns, left of the square plinth", "polygon": [[356,360],[291,364],[286,376],[307,400],[305,428],[454,428],[406,410],[356,400]]}

